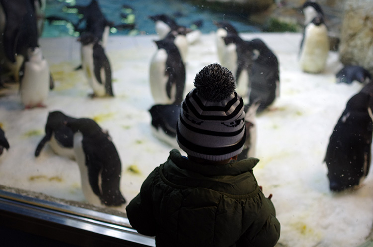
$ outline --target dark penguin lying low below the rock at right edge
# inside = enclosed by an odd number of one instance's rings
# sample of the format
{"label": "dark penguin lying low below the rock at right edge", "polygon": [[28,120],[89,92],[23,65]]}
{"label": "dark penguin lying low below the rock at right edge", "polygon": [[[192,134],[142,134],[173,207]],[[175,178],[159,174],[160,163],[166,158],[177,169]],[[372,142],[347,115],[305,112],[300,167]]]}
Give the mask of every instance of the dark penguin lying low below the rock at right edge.
{"label": "dark penguin lying low below the rock at right edge", "polygon": [[347,83],[351,84],[353,81],[358,81],[362,84],[367,84],[372,80],[371,73],[368,72],[365,68],[361,66],[348,65],[343,67],[335,75],[337,83]]}

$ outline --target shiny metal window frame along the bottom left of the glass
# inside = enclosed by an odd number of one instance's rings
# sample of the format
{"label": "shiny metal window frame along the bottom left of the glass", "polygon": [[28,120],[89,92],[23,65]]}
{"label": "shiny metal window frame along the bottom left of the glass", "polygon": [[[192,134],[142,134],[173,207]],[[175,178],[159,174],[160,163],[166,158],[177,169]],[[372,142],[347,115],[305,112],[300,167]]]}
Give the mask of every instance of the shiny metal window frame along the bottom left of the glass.
{"label": "shiny metal window frame along the bottom left of the glass", "polygon": [[155,246],[128,219],[0,190],[0,225],[77,246]]}

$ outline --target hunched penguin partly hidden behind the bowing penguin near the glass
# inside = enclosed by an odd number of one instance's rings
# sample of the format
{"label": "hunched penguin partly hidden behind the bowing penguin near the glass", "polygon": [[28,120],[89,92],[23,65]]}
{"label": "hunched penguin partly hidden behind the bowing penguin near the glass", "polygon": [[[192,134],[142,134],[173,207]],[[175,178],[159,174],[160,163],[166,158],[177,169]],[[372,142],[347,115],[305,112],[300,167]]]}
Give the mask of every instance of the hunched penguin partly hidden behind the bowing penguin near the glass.
{"label": "hunched penguin partly hidden behind the bowing penguin near the glass", "polygon": [[49,112],[45,124],[45,136],[40,140],[35,150],[35,157],[38,157],[44,145],[49,142],[52,150],[61,156],[75,159],[73,149],[73,131],[66,126],[65,122],[75,120],[60,111]]}

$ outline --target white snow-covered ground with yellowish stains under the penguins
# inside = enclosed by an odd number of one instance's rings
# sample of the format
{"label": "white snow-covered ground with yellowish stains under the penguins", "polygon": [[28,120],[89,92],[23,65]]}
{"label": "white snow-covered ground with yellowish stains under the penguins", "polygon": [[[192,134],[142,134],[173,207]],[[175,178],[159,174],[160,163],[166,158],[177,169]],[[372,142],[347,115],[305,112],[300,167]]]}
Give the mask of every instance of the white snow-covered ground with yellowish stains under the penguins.
{"label": "white snow-covered ground with yellowish stains under the penguins", "polygon": [[[322,74],[301,72],[297,63],[300,34],[243,34],[262,38],[280,62],[280,98],[270,111],[257,116],[257,155],[254,174],[266,195],[273,194],[281,223],[279,243],[289,247],[354,247],[364,243],[373,222],[372,169],[359,189],[329,191],[323,163],[332,130],[347,100],[362,87],[336,84],[342,67],[330,52]],[[187,93],[196,73],[218,62],[214,34],[203,35],[189,47]],[[55,79],[46,108],[24,110],[17,85],[0,91],[0,123],[10,149],[0,157],[0,184],[85,201],[75,161],[57,156],[48,145],[38,158],[34,151],[44,135],[48,112],[89,117],[108,129],[122,162],[121,191],[130,201],[142,181],[163,163],[170,147],[151,134],[148,109],[149,64],[156,36],[109,38],[107,54],[113,70],[115,98],[87,97],[91,93],[74,38],[40,40]],[[125,212],[125,206],[118,210]]]}

